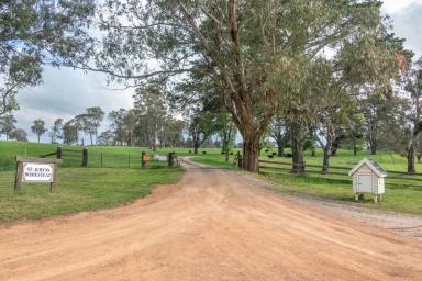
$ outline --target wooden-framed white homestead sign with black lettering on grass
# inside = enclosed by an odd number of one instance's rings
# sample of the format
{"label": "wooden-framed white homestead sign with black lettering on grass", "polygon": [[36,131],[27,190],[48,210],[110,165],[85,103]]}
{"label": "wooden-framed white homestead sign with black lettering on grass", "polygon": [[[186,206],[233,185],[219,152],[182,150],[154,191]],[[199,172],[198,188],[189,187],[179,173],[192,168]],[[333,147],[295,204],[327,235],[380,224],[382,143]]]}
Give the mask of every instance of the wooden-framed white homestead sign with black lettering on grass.
{"label": "wooden-framed white homestead sign with black lettering on grass", "polygon": [[54,158],[16,158],[14,192],[21,191],[22,182],[47,182],[49,192],[54,192],[57,182],[57,164]]}

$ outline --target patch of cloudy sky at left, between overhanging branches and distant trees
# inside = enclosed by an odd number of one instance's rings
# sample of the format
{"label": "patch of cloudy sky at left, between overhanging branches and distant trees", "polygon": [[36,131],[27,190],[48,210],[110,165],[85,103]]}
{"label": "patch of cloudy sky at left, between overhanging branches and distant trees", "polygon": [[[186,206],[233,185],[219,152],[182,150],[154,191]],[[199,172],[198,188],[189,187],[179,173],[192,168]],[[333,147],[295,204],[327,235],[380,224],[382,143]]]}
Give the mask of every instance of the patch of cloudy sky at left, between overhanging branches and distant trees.
{"label": "patch of cloudy sky at left, between overhanging branches and distant trees", "polygon": [[[47,127],[51,127],[54,120],[58,117],[69,120],[84,113],[86,108],[101,106],[109,113],[133,105],[133,89],[110,90],[107,88],[107,77],[102,74],[47,67],[43,78],[43,85],[19,92],[18,101],[21,109],[14,113],[18,119],[16,126],[25,130],[32,140],[35,139],[35,135],[31,133],[31,125],[36,119],[44,120]],[[47,140],[46,135],[43,140]]]}

